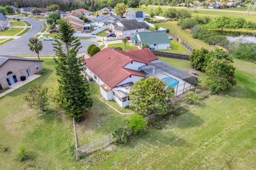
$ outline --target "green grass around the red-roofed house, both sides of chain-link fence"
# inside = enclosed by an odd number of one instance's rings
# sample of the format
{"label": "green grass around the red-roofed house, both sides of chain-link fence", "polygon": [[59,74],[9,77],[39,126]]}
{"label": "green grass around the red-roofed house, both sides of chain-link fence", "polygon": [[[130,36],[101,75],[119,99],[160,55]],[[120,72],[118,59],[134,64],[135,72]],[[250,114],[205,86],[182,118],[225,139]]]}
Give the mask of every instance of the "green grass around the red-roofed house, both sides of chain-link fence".
{"label": "green grass around the red-roofed house, both sides of chain-link fence", "polygon": [[[159,57],[175,67],[189,69],[189,61]],[[234,60],[237,85],[200,104],[167,115],[127,144],[113,145],[78,161],[74,155],[72,121],[54,109],[44,114],[28,109],[24,94],[34,82],[54,91],[55,62],[44,59],[38,79],[0,98],[2,169],[255,169],[256,168],[256,67]],[[201,77],[200,77],[201,78]],[[107,136],[124,126],[132,115],[120,115],[98,100],[100,90],[90,83],[94,105],[85,121],[76,125],[79,146]],[[15,106],[15,107],[14,107]],[[179,112],[178,112],[179,113]],[[69,142],[72,146],[70,150]],[[27,146],[28,159],[17,160],[20,145]]]}

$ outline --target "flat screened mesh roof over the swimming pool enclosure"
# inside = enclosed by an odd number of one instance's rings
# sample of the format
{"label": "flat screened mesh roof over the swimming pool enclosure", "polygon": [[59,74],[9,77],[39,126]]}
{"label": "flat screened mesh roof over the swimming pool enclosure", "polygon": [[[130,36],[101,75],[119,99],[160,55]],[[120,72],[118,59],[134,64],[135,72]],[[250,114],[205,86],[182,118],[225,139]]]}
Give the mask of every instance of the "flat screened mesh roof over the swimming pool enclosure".
{"label": "flat screened mesh roof over the swimming pool enclosure", "polygon": [[159,60],[157,62],[139,67],[139,71],[144,73],[146,77],[154,76],[159,79],[163,79],[164,77],[171,77],[177,81],[183,80],[192,85],[196,85],[196,81],[198,79],[194,75],[191,75]]}

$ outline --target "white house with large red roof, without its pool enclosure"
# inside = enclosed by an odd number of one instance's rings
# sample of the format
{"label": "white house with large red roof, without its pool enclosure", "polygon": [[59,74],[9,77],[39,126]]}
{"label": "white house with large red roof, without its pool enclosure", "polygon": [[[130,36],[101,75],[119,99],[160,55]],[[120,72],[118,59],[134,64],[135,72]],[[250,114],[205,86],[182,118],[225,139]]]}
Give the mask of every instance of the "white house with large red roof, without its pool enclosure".
{"label": "white house with large red roof, without its pool enclosure", "polygon": [[85,59],[86,73],[100,85],[100,93],[106,100],[114,99],[126,107],[130,105],[130,87],[146,77],[138,68],[154,60],[158,58],[148,48],[128,52],[105,48]]}

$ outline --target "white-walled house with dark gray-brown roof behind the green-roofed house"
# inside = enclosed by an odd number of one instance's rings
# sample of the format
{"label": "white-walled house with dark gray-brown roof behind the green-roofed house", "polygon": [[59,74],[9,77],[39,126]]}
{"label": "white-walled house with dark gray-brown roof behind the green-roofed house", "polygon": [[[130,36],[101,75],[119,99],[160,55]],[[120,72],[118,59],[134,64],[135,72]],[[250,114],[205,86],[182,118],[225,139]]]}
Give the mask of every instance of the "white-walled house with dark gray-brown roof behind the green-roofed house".
{"label": "white-walled house with dark gray-brown roof behind the green-roofed house", "polygon": [[119,20],[116,23],[109,24],[109,29],[117,36],[132,36],[137,32],[142,32],[145,27],[137,20]]}

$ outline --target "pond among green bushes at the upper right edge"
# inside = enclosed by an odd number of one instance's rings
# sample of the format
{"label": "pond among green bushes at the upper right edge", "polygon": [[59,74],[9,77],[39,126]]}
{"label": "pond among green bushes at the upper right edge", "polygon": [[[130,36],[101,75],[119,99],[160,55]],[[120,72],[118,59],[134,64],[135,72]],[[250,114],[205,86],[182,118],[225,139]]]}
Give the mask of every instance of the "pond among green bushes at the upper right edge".
{"label": "pond among green bushes at the upper right edge", "polygon": [[224,35],[230,42],[234,42],[238,39],[242,39],[242,42],[254,42],[256,43],[256,34],[241,33],[241,32],[221,32],[214,31],[218,35]]}

